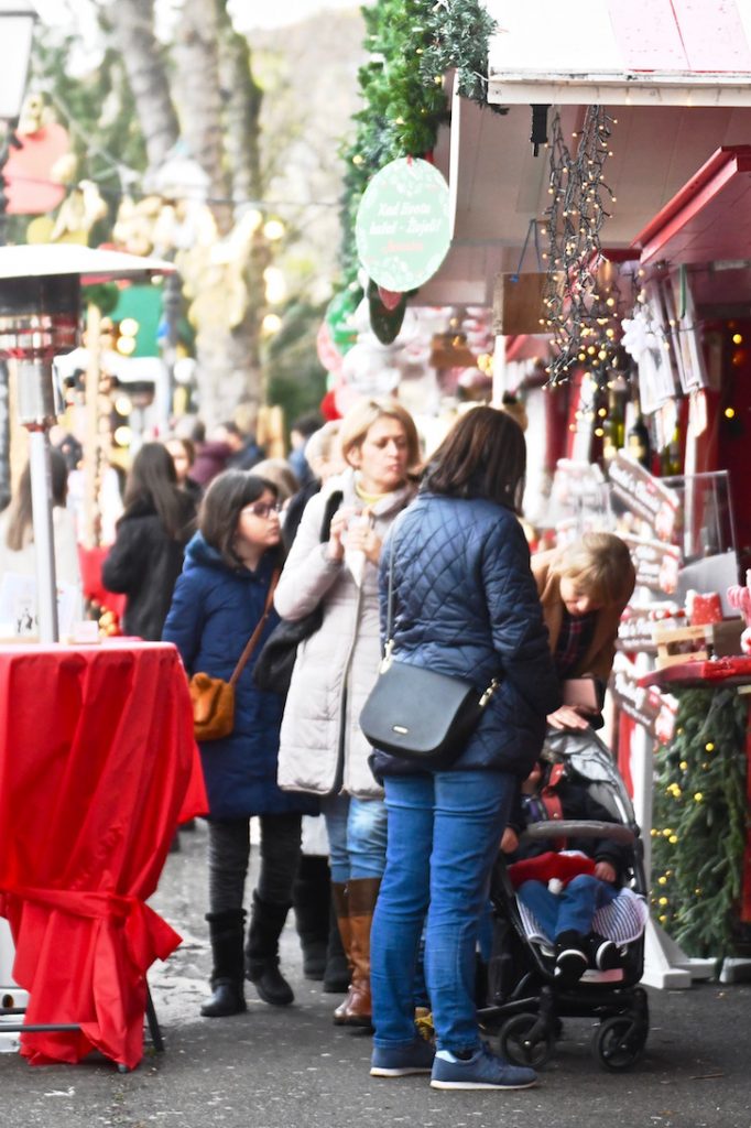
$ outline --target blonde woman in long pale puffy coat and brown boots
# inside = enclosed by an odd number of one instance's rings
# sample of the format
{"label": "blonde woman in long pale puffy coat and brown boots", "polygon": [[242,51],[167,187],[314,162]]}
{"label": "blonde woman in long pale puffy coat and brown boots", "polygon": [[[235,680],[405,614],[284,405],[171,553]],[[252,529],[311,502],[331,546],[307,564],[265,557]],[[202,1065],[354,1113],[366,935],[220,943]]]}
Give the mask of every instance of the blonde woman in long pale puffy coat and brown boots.
{"label": "blonde woman in long pale puffy coat and brown boots", "polygon": [[[409,472],[419,448],[412,416],[396,400],[355,405],[339,441],[350,468],[308,502],[274,600],[286,619],[324,607],[323,626],[298,649],[279,784],[321,797],[334,904],[352,973],[334,1021],[370,1025],[370,924],[386,865],[386,808],[359,719],[381,658],[381,546],[414,496]],[[330,527],[321,529],[337,491],[342,502]]]}

